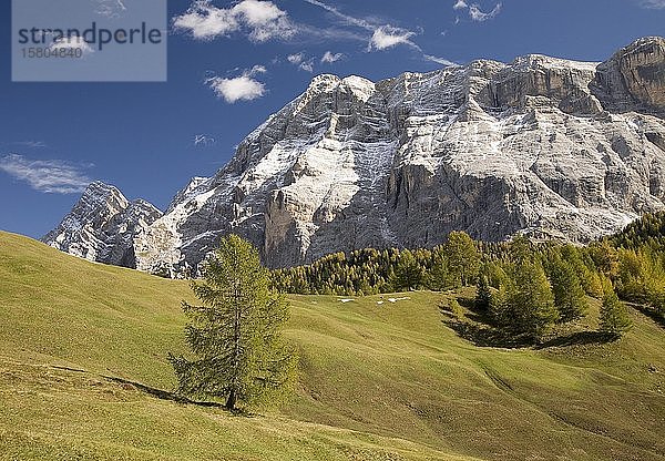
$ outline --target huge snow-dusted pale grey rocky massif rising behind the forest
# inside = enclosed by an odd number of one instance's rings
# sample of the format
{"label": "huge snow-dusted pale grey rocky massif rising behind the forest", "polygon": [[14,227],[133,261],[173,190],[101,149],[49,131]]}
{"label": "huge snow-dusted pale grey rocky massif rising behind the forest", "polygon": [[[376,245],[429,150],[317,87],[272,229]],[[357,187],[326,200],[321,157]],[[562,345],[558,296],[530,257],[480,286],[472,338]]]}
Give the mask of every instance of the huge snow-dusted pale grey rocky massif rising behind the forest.
{"label": "huge snow-dusted pale grey rocky massif rising behind the forest", "polygon": [[232,232],[273,267],[433,246],[453,229],[585,242],[664,208],[664,119],[663,38],[602,63],[526,55],[376,83],[319,75],[163,216],[127,225],[121,238],[122,215],[115,226],[76,215],[85,232],[63,223],[45,240],[176,272]]}

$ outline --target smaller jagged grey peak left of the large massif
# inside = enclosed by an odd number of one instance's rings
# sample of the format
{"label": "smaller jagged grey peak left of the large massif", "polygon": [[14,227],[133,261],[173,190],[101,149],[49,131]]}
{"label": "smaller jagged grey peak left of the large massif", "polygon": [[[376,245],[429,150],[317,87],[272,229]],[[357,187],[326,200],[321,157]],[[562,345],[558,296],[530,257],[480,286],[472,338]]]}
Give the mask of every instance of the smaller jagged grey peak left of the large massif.
{"label": "smaller jagged grey peak left of the large massif", "polygon": [[117,188],[94,182],[43,240],[82,258],[136,267],[134,238],[162,216],[150,203],[129,202]]}

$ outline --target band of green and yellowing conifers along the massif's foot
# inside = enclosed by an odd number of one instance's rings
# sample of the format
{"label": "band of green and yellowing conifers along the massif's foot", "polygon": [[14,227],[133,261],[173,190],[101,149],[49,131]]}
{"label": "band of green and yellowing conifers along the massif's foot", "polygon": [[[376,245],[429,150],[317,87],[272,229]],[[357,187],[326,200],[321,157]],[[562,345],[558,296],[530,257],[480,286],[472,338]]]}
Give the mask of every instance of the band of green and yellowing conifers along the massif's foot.
{"label": "band of green and yellowing conifers along the massif's foot", "polygon": [[431,249],[366,248],[272,272],[275,289],[364,296],[415,289],[477,287],[475,307],[515,335],[542,337],[602,303],[600,330],[631,328],[624,301],[665,317],[665,213],[645,215],[623,232],[586,246],[525,237],[474,242],[451,233]]}

